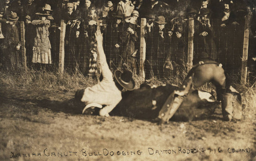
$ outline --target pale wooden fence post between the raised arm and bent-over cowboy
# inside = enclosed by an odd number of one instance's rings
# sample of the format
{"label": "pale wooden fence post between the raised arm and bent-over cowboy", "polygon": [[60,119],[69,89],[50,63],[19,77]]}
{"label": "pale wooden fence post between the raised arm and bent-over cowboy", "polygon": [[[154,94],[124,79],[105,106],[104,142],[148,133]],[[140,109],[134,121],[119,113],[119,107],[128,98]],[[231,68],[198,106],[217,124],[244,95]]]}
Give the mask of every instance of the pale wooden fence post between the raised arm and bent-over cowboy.
{"label": "pale wooden fence post between the raised arm and bent-over cowboy", "polygon": [[140,77],[145,80],[144,62],[146,58],[146,41],[145,41],[146,18],[141,18],[140,24]]}

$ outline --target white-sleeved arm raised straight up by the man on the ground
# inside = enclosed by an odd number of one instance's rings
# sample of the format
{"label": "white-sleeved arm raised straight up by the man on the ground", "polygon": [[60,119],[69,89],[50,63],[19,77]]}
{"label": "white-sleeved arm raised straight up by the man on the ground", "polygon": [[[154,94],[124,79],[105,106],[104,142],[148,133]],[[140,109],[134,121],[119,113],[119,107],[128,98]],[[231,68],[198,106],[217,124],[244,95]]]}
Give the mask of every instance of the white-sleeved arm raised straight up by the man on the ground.
{"label": "white-sleeved arm raised straight up by the man on the ground", "polygon": [[106,63],[106,56],[103,50],[103,37],[100,30],[95,33],[95,39],[97,41],[97,53],[99,58],[99,64],[103,78],[113,80],[112,73],[109,69],[108,63]]}

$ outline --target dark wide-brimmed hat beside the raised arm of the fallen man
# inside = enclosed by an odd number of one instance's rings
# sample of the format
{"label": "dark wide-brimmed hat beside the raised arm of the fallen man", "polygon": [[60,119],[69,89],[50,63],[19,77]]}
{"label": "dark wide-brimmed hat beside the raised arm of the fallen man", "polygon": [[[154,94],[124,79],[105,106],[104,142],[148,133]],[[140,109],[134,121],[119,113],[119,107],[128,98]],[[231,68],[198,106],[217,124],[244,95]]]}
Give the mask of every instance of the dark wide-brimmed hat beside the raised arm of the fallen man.
{"label": "dark wide-brimmed hat beside the raised arm of the fallen man", "polygon": [[122,73],[119,70],[115,71],[115,79],[117,82],[126,90],[133,90],[135,87],[135,82],[133,80],[133,73],[127,70],[124,70]]}

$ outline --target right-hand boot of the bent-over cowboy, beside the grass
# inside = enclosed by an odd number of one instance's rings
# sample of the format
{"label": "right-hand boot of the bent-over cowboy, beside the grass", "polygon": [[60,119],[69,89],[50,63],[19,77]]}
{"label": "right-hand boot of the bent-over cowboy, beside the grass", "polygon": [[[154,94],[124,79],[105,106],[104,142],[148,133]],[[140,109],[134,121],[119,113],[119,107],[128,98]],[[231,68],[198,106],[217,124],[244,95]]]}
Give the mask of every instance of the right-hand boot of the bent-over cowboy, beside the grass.
{"label": "right-hand boot of the bent-over cowboy, beside the grass", "polygon": [[233,95],[224,93],[222,94],[221,107],[222,115],[225,121],[231,121],[233,118]]}

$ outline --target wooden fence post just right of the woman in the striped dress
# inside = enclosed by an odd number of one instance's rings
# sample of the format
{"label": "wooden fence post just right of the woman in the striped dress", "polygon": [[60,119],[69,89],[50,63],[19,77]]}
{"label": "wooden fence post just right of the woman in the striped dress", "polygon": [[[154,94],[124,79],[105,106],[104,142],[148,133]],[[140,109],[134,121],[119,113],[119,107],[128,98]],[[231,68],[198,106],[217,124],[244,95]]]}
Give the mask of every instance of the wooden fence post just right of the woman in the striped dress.
{"label": "wooden fence post just right of the woman in the striped dress", "polygon": [[64,73],[64,57],[65,57],[65,33],[66,24],[64,20],[60,22],[60,40],[59,40],[59,73]]}

